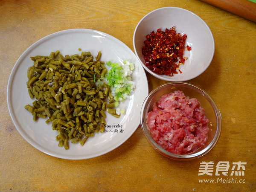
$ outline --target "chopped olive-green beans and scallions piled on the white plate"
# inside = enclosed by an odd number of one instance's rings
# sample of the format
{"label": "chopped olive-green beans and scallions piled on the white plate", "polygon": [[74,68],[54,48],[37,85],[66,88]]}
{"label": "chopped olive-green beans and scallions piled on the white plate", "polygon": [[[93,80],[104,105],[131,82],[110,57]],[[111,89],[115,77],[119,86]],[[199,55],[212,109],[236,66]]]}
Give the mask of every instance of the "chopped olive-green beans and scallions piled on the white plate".
{"label": "chopped olive-green beans and scallions piled on the white plate", "polygon": [[[69,148],[69,140],[84,145],[94,132],[103,133],[105,111],[119,117],[115,108],[134,87],[131,73],[125,75],[118,64],[111,65],[108,73],[100,57],[101,52],[93,58],[90,52],[63,56],[59,51],[31,57],[34,64],[27,72],[27,87],[35,101],[25,108],[35,121],[38,117],[48,118],[46,123],[51,122],[52,129],[59,133],[58,145],[65,149]],[[129,66],[134,69],[132,64]],[[106,78],[109,82],[104,82]],[[115,87],[114,96],[111,87]]]}

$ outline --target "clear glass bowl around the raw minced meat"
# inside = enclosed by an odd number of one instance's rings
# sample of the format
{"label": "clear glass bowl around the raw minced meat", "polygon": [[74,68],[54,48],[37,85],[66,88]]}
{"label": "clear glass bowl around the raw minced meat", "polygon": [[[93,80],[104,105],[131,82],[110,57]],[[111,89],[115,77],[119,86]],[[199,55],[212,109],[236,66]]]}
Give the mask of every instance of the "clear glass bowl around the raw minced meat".
{"label": "clear glass bowl around the raw minced meat", "polygon": [[[207,118],[210,119],[207,142],[196,151],[184,155],[173,154],[161,148],[150,136],[146,124],[147,113],[152,110],[154,102],[157,102],[161,96],[175,90],[183,91],[185,96],[189,96],[189,98],[198,99],[206,112]],[[221,134],[221,113],[215,102],[204,90],[186,82],[169,82],[151,91],[143,102],[140,113],[140,123],[143,134],[153,148],[165,157],[174,160],[192,160],[207,154],[215,146]]]}

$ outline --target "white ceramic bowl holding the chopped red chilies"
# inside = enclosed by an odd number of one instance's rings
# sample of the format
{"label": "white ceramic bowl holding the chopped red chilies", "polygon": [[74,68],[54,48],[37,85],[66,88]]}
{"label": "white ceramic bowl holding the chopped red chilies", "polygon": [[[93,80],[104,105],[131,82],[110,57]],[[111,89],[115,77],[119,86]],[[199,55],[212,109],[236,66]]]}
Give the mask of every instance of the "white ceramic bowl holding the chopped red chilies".
{"label": "white ceramic bowl holding the chopped red chilies", "polygon": [[[186,34],[186,45],[192,47],[184,50],[188,59],[180,65],[182,73],[174,76],[157,75],[145,66],[142,54],[145,36],[157,29],[165,30],[175,26],[176,33]],[[133,36],[134,52],[140,64],[151,75],[166,81],[187,81],[203,73],[212,61],[214,55],[214,38],[207,24],[198,15],[178,7],[163,7],[145,15],[137,24]]]}

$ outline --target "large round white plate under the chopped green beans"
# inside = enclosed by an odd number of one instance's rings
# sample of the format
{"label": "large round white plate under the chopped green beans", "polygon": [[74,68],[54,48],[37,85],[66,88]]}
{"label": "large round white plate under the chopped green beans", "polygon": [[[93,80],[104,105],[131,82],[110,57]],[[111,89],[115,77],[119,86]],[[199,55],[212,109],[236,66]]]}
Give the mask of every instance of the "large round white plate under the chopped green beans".
{"label": "large round white plate under the chopped green beans", "polygon": [[[50,52],[60,50],[62,55],[71,55],[81,51],[90,51],[95,57],[102,52],[101,61],[122,62],[129,60],[134,63],[132,74],[136,88],[130,99],[119,105],[126,113],[120,118],[108,115],[105,133],[90,137],[84,146],[80,143],[70,143],[70,149],[58,147],[55,137],[57,131],[52,131],[51,123],[46,119],[34,122],[32,114],[24,109],[27,104],[32,105],[26,82],[27,69],[33,65],[30,56],[49,55]],[[140,124],[140,109],[148,95],[148,81],[143,67],[136,55],[122,41],[103,32],[91,29],[68,29],[48,35],[30,46],[17,60],[12,69],[7,86],[7,103],[12,121],[21,136],[38,150],[54,157],[63,159],[88,159],[108,153],[124,143],[134,133]],[[115,126],[115,127],[114,127]]]}

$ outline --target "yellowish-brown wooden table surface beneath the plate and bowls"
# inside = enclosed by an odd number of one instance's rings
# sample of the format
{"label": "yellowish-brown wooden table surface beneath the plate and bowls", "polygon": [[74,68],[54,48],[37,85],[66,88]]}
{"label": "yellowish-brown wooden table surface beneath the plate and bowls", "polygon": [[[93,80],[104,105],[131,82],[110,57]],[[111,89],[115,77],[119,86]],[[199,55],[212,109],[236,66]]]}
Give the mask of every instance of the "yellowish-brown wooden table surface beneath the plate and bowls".
{"label": "yellowish-brown wooden table surface beneath the plate and bowls", "polygon": [[[208,154],[170,160],[154,151],[140,126],[118,148],[87,160],[49,156],[21,137],[8,112],[6,87],[30,45],[53,32],[85,28],[134,50],[137,23],[166,6],[194,12],[215,38],[209,68],[188,81],[206,90],[221,111],[221,137]],[[256,23],[200,0],[0,0],[0,26],[0,191],[256,191]],[[146,74],[149,91],[166,82]],[[200,175],[204,162],[214,163],[212,175]]]}

